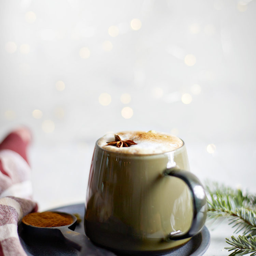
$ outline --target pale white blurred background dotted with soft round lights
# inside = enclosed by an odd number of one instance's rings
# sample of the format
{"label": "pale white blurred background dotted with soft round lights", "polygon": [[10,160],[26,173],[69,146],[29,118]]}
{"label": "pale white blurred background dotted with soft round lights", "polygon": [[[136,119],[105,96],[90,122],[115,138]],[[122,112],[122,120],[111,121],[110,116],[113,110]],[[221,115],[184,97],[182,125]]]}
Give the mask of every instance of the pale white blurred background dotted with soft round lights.
{"label": "pale white blurred background dotted with soft round lights", "polygon": [[1,0],[0,136],[33,132],[40,210],[85,199],[95,141],[157,130],[255,191],[256,1]]}

